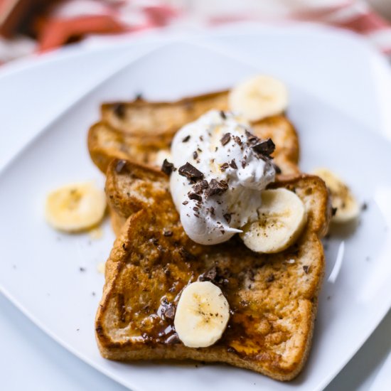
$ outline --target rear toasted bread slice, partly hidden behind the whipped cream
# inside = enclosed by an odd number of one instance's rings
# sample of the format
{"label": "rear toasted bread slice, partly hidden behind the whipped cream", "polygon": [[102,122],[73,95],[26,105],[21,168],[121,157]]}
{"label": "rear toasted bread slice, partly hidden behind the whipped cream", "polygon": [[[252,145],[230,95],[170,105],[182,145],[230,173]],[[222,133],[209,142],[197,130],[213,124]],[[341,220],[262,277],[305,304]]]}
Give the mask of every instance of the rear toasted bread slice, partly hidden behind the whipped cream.
{"label": "rear toasted bread slice, partly hidden behind the whipped cream", "polygon": [[[114,158],[156,166],[156,153],[169,149],[178,129],[210,109],[227,109],[227,91],[178,102],[104,104],[102,120],[92,125],[88,134],[92,161],[104,173]],[[298,136],[283,114],[255,122],[252,127],[259,138],[273,139],[274,159],[283,173],[299,172]]]}

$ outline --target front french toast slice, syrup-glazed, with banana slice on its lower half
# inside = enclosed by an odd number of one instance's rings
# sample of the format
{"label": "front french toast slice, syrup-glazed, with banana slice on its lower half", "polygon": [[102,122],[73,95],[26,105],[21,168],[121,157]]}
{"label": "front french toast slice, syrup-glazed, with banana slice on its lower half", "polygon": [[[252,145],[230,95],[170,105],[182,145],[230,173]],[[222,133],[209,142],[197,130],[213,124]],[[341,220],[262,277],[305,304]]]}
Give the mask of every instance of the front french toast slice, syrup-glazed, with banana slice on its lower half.
{"label": "front french toast slice, syrup-glazed, with banana slice on its lower half", "polygon": [[[192,242],[165,174],[121,160],[109,164],[107,199],[112,214],[125,223],[118,224],[96,316],[103,357],[220,362],[277,380],[300,372],[311,346],[324,272],[320,238],[331,206],[326,185],[316,176],[280,176],[269,187],[294,191],[308,219],[293,246],[262,255],[237,236],[222,245]],[[223,337],[208,348],[187,348],[173,328],[181,290],[196,280],[218,284],[231,309]]]}

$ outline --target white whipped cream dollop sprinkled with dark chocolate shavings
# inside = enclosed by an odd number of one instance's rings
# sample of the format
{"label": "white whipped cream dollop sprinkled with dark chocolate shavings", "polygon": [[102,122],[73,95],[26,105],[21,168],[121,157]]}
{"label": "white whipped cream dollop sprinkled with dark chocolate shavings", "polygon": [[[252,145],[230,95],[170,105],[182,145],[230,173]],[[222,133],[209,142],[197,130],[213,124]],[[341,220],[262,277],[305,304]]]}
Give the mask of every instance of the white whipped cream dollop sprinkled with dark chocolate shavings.
{"label": "white whipped cream dollop sprinkled with dark chocolate shavings", "polygon": [[272,140],[261,140],[232,112],[211,110],[171,144],[170,188],[186,234],[215,245],[257,220],[261,191],[274,181]]}

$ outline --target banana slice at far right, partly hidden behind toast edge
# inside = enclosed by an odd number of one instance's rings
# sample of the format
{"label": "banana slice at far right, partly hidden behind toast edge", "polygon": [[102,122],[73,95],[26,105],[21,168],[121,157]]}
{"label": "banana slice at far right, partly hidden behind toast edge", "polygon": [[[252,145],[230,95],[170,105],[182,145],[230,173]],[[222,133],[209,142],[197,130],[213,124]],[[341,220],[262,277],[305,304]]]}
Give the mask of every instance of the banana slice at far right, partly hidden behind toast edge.
{"label": "banana slice at far right, partly hidden behind toast edge", "polygon": [[333,215],[331,221],[333,223],[348,223],[358,218],[360,214],[358,202],[341,178],[328,168],[317,168],[313,173],[320,176],[330,190],[331,204],[333,208],[336,208],[336,214]]}

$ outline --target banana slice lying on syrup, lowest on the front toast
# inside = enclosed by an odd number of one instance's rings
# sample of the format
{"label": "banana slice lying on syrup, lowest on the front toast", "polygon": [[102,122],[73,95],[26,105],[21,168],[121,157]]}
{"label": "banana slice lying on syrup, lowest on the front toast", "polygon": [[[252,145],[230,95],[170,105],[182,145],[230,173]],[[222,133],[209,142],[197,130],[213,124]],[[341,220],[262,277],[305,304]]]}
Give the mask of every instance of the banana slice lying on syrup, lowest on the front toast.
{"label": "banana slice lying on syrup, lowest on the front toast", "polygon": [[221,289],[208,281],[193,282],[183,289],[173,324],[185,346],[206,348],[221,338],[229,318]]}

